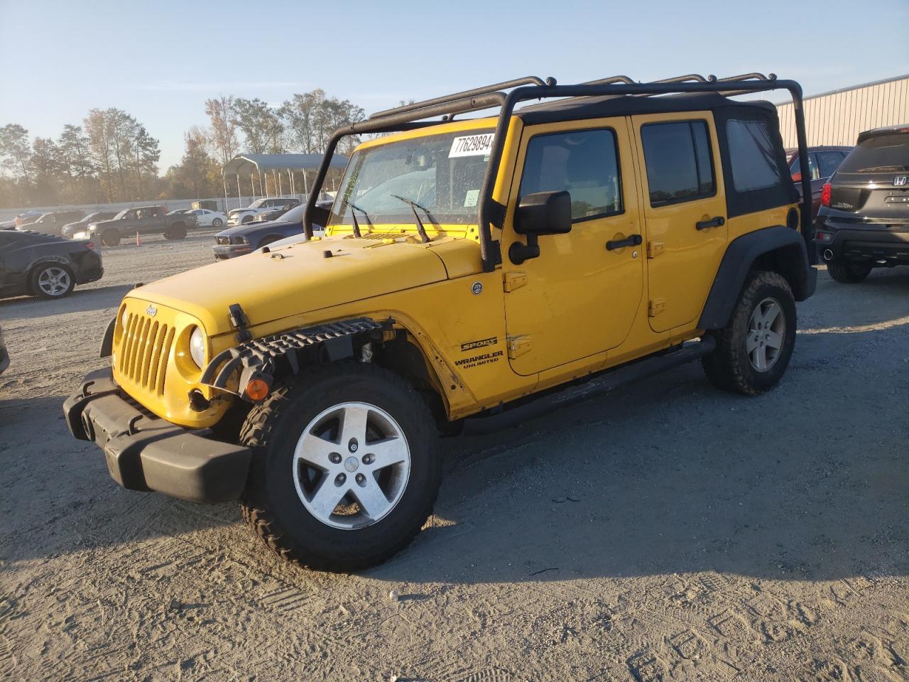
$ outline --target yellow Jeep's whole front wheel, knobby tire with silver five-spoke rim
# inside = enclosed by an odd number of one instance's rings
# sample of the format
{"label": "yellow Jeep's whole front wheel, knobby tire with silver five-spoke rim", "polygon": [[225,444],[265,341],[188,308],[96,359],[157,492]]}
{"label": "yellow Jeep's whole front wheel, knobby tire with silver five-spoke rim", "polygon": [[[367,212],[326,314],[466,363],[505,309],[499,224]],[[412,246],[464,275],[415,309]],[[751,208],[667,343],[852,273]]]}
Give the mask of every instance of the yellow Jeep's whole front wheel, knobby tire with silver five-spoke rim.
{"label": "yellow Jeep's whole front wheel, knobby tire with silver five-spoke rim", "polygon": [[253,448],[243,515],[301,566],[375,566],[432,514],[442,475],[435,421],[413,387],[380,367],[295,377],[252,409],[241,442]]}

